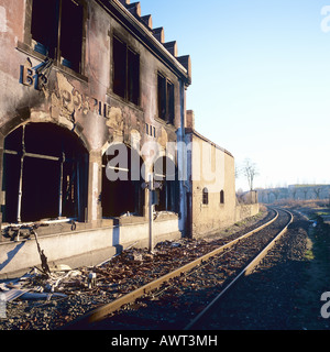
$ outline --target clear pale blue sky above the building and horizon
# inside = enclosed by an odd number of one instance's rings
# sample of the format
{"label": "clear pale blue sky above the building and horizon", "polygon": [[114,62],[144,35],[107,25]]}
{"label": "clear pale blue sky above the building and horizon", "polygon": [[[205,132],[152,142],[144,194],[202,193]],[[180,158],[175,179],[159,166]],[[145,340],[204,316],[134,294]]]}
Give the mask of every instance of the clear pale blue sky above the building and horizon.
{"label": "clear pale blue sky above the building and horizon", "polygon": [[141,9],[191,56],[196,130],[238,166],[256,163],[256,187],[330,183],[330,0],[141,0]]}

